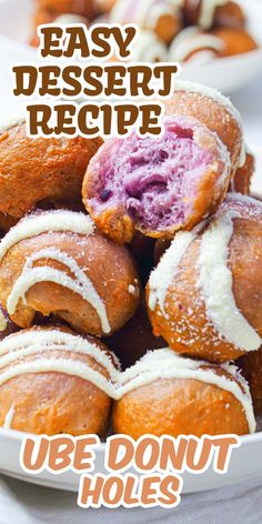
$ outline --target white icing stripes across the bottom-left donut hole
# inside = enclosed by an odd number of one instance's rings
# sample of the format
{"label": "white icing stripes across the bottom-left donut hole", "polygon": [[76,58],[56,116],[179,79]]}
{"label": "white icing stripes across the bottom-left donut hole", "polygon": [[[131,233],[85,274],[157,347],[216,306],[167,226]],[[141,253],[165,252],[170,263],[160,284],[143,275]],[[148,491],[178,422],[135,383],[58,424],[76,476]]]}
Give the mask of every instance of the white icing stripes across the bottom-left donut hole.
{"label": "white icing stripes across the bottom-left donut hole", "polygon": [[[107,370],[110,379],[108,380],[81,360],[64,356],[54,359],[51,354],[50,357],[42,355],[42,352],[59,350],[91,356]],[[114,396],[113,383],[117,381],[119,373],[117,357],[110,353],[111,359],[94,342],[92,343],[80,335],[56,329],[24,331],[1,341],[0,355],[0,367],[2,370],[0,371],[0,385],[21,374],[58,372],[91,382],[109,396]],[[32,361],[22,362],[22,359],[32,355],[34,355]],[[8,365],[10,367],[6,367]]]}

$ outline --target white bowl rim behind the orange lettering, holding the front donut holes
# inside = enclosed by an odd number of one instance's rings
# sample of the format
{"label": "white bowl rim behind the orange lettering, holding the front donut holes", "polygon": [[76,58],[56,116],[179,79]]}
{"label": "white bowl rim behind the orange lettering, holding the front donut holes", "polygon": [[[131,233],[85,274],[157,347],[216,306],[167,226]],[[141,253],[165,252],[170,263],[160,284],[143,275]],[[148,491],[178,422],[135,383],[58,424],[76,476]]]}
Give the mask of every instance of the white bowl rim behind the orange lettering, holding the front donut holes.
{"label": "white bowl rim behind the orange lettering, holding the front donut holes", "polygon": [[[78,492],[80,475],[72,471],[57,475],[43,471],[42,473],[33,475],[21,470],[19,455],[24,436],[24,433],[17,431],[0,430],[0,472],[31,484]],[[97,473],[107,475],[108,473],[104,468],[104,444],[101,444],[100,447],[95,450],[95,470],[92,472],[92,475]],[[261,471],[262,432],[241,437],[241,446],[233,450],[226,474],[221,475],[215,473],[212,465],[201,475],[193,475],[188,472],[182,474],[182,493],[204,492],[215,490],[216,487],[238,484],[240,480],[244,482],[255,478],[261,475]],[[127,471],[127,473],[135,474],[132,470]]]}

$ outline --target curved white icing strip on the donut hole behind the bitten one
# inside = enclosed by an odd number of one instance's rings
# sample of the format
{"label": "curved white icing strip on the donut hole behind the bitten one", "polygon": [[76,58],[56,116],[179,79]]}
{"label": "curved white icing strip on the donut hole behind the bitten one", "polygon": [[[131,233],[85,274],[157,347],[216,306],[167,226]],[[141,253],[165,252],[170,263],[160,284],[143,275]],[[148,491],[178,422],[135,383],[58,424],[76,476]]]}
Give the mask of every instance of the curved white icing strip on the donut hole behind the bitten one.
{"label": "curved white icing strip on the donut hole behind the bitten one", "polygon": [[244,141],[244,133],[243,133],[243,125],[242,125],[242,120],[240,112],[238,109],[232,104],[230,99],[228,97],[224,97],[220,91],[216,89],[209,88],[206,85],[202,85],[201,83],[195,83],[195,82],[187,82],[183,80],[177,80],[174,84],[174,91],[185,91],[189,93],[198,93],[202,94],[203,97],[206,97],[214,102],[218,102],[219,104],[223,105],[230,114],[235,119],[235,121],[239,124],[239,128],[242,133],[242,147],[241,147],[241,155],[240,155],[240,164],[239,167],[242,168],[245,164],[245,141]]}

